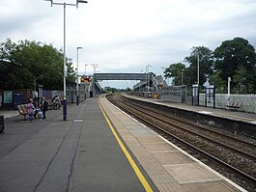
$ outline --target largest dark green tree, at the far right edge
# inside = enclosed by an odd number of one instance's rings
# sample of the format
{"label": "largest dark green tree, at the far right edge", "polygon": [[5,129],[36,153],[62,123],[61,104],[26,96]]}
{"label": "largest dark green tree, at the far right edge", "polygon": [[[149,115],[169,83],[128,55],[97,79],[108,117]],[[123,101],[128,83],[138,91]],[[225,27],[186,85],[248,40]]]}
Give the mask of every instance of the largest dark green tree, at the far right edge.
{"label": "largest dark green tree, at the far right edge", "polygon": [[214,50],[214,57],[213,68],[219,71],[218,75],[222,80],[233,77],[233,87],[240,93],[256,91],[256,54],[247,40],[235,38],[223,41]]}

